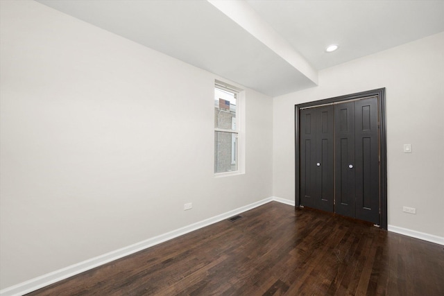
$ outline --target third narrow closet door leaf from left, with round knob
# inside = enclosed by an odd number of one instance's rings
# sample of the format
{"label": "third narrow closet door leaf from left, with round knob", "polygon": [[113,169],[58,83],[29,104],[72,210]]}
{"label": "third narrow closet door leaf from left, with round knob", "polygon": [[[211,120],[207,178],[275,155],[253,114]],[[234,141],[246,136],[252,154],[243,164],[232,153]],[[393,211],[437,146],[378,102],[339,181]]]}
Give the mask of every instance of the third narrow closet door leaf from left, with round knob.
{"label": "third narrow closet door leaf from left, with round knob", "polygon": [[335,212],[355,218],[355,102],[334,107]]}

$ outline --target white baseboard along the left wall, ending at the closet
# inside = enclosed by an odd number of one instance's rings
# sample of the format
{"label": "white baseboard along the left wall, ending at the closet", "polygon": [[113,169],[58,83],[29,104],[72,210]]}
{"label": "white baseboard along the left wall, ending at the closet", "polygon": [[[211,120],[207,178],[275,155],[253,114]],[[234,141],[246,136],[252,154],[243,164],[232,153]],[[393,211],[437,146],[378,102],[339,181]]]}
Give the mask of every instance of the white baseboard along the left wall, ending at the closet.
{"label": "white baseboard along the left wall, ending at the closet", "polygon": [[68,277],[72,277],[74,275],[78,275],[81,272],[85,272],[92,268],[96,268],[97,266],[103,265],[105,263],[109,263],[111,261],[120,259],[124,256],[128,256],[130,254],[134,254],[135,252],[142,251],[148,247],[152,247],[153,245],[157,245],[163,243],[165,241],[169,241],[172,238],[176,238],[178,236],[182,236],[183,234],[187,234],[189,232],[193,232],[194,230],[203,228],[208,225],[212,225],[221,220],[225,220],[237,214],[241,214],[244,211],[248,211],[250,209],[254,209],[255,207],[259,207],[262,204],[266,204],[271,201],[283,202],[286,204],[291,204],[290,200],[284,200],[282,198],[265,198],[264,200],[259,200],[258,202],[253,202],[252,204],[248,204],[244,207],[239,207],[232,211],[228,211],[226,213],[220,214],[218,216],[214,216],[212,218],[208,218],[202,220],[197,223],[193,223],[191,225],[173,230],[172,232],[167,232],[166,234],[161,234],[160,236],[155,236],[153,238],[148,238],[145,241],[141,241],[139,243],[135,243],[134,245],[128,245],[128,247],[122,247],[119,250],[114,250],[112,252],[103,254],[101,256],[96,256],[92,259],[88,259],[74,265],[67,266],[66,268],[62,268],[60,270],[56,270],[53,272],[49,272],[46,275],[42,275],[40,277],[35,277],[34,279],[30,279],[28,281],[24,281],[15,286],[10,286],[8,288],[4,288],[0,290],[1,296],[16,296],[16,295],[24,295],[26,293],[30,293],[32,291],[38,290],[45,286],[49,286],[51,284],[56,283],[57,281],[61,281],[62,279],[67,279]]}

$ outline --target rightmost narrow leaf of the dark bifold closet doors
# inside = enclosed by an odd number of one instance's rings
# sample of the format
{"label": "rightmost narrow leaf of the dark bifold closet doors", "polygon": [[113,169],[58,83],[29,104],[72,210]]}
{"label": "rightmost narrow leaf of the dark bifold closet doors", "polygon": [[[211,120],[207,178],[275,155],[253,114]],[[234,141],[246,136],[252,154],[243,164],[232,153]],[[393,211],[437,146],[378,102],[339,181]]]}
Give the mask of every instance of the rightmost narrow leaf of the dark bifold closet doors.
{"label": "rightmost narrow leaf of the dark bifold closet doors", "polygon": [[355,101],[356,218],[379,224],[377,98]]}

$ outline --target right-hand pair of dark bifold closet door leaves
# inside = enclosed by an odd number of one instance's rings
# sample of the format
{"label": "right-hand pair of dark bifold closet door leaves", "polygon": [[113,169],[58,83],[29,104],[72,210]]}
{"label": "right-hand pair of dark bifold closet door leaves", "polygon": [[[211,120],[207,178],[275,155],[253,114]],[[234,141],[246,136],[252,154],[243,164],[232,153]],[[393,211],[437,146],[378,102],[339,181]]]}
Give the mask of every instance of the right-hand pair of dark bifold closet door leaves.
{"label": "right-hand pair of dark bifold closet door leaves", "polygon": [[377,98],[334,107],[335,212],[379,224]]}

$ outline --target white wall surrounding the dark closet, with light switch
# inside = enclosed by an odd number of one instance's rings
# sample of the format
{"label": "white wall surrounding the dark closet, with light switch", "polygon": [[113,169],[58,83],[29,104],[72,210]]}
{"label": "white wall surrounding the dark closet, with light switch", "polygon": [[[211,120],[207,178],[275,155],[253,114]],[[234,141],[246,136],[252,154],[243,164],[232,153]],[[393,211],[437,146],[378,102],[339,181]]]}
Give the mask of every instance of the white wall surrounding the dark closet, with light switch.
{"label": "white wall surrounding the dark closet, with light switch", "polygon": [[[334,53],[333,53],[334,54]],[[388,225],[444,237],[444,33],[319,72],[273,98],[273,193],[295,198],[294,105],[386,87]],[[412,144],[412,153],[402,152]],[[416,215],[402,212],[415,207]]]}

